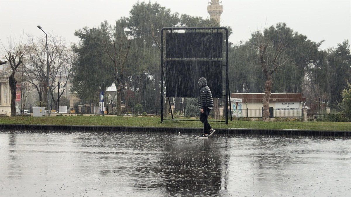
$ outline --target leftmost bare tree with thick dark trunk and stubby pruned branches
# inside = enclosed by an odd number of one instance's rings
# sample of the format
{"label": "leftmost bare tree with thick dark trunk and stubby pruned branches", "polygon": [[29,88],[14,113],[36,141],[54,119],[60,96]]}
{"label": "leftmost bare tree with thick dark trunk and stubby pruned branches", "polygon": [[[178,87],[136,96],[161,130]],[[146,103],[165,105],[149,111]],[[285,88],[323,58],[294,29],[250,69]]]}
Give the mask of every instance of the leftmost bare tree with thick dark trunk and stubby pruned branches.
{"label": "leftmost bare tree with thick dark trunk and stubby pruned branches", "polygon": [[[15,73],[18,66],[22,63],[25,55],[25,45],[23,44],[23,36],[20,37],[19,42],[15,40],[9,40],[8,47],[5,47],[4,44],[1,45],[5,51],[5,58],[8,61],[11,67],[11,74],[8,76],[8,82],[11,91],[11,116],[16,115],[16,90],[17,90],[17,80],[15,78]],[[5,62],[6,63],[6,62]]]}

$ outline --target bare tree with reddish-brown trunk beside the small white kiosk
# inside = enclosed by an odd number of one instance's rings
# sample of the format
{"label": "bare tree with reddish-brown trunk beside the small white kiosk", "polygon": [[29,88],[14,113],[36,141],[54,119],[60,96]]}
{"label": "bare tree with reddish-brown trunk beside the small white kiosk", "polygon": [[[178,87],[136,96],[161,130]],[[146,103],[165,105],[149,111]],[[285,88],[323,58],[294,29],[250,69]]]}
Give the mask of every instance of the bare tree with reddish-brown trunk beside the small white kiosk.
{"label": "bare tree with reddish-brown trunk beside the small white kiosk", "polygon": [[[274,46],[273,42],[266,39],[261,33],[256,32],[252,35],[258,55],[258,63],[260,64],[263,74],[266,78],[264,84],[264,96],[263,96],[263,121],[270,120],[269,113],[269,101],[271,99],[271,91],[273,87],[272,75],[277,71],[278,68],[282,67],[286,63],[287,58],[283,57],[283,40],[278,40],[277,45]],[[283,61],[282,61],[283,60]]]}

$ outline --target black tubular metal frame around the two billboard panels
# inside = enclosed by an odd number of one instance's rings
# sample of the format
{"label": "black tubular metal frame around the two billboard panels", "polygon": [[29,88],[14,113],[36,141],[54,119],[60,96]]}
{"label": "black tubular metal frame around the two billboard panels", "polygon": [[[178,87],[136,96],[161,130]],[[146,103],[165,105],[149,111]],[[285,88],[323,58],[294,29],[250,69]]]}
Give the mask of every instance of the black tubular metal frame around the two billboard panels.
{"label": "black tubular metal frame around the two billboard panels", "polygon": [[[222,53],[225,53],[225,65],[222,64],[222,66],[225,66],[225,121],[212,121],[212,122],[225,122],[226,124],[228,124],[228,100],[230,102],[230,111],[231,111],[231,101],[230,101],[230,90],[229,90],[229,77],[228,77],[228,29],[226,27],[164,27],[161,29],[161,122],[163,122],[164,120],[174,120],[173,118],[173,113],[172,113],[172,109],[171,109],[171,114],[172,114],[172,119],[164,119],[163,117],[163,102],[164,102],[164,96],[166,96],[166,93],[164,93],[164,87],[163,87],[163,82],[165,80],[165,75],[164,75],[164,39],[163,39],[163,32],[165,30],[170,30],[172,33],[172,30],[225,30],[226,32],[226,37],[225,37],[225,51],[223,51],[222,48]],[[223,61],[223,57],[222,57],[222,61]],[[222,85],[223,86],[223,85]],[[223,87],[222,87],[223,89]],[[170,100],[168,98],[168,102],[170,103]],[[171,107],[171,105],[170,105]],[[230,119],[232,121],[232,114],[230,113]],[[184,121],[195,121],[195,120],[184,120]],[[199,121],[199,120],[196,120]]]}

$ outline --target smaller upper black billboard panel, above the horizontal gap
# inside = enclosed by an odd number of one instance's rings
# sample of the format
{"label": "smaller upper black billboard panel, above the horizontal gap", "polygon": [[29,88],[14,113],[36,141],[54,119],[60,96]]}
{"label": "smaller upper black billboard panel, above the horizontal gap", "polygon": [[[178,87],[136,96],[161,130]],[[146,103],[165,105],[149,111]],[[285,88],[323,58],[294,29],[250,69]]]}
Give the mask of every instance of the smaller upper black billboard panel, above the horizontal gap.
{"label": "smaller upper black billboard panel, above the horizontal gap", "polygon": [[166,33],[167,58],[222,58],[222,33]]}

